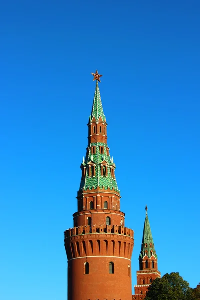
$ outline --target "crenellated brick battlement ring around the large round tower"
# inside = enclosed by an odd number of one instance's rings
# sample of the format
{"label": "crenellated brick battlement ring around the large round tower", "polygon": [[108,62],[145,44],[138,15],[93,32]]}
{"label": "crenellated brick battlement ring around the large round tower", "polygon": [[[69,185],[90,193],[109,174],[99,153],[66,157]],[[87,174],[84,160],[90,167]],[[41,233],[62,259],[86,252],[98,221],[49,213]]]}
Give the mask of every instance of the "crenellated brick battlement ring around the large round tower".
{"label": "crenellated brick battlement ring around the large round tower", "polygon": [[91,233],[112,233],[112,234],[122,234],[129,237],[134,236],[134,231],[130,228],[117,226],[117,225],[87,225],[79,226],[67,229],[64,232],[64,237],[82,235],[82,234],[91,234]]}

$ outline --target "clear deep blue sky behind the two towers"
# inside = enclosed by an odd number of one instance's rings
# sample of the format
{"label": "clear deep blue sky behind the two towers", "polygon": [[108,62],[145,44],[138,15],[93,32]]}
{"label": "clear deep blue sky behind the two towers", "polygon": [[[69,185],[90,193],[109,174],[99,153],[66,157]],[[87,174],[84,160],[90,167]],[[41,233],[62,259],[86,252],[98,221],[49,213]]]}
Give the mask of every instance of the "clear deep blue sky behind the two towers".
{"label": "clear deep blue sky behind the two towers", "polygon": [[162,275],[199,282],[199,15],[199,0],[1,1],[0,299],[67,298],[96,69],[132,282],[145,204]]}

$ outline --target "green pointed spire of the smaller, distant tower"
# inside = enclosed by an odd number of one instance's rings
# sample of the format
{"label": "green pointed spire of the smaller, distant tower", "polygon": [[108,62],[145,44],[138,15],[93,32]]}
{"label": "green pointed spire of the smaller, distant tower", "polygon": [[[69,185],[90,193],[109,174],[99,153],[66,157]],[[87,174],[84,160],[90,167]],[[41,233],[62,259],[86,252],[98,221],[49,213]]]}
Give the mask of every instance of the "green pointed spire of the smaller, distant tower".
{"label": "green pointed spire of the smaller, distant tower", "polygon": [[153,255],[157,258],[155,248],[154,248],[152,233],[151,233],[151,229],[150,229],[150,223],[148,220],[147,206],[145,209],[146,209],[146,218],[145,218],[145,222],[144,222],[141,253],[140,253],[139,257],[143,258],[146,254],[150,258],[153,253]]}

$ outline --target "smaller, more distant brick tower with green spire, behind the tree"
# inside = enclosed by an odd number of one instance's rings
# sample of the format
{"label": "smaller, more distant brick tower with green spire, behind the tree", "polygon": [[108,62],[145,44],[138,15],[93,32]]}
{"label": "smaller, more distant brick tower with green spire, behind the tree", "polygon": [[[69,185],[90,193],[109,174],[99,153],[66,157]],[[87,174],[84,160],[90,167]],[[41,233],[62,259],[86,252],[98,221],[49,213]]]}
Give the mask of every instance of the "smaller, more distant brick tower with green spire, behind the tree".
{"label": "smaller, more distant brick tower with green spire, behind the tree", "polygon": [[134,300],[144,299],[148,286],[150,286],[154,279],[161,277],[157,269],[157,255],[154,248],[147,210],[148,208],[146,206],[146,218],[144,222],[141,252],[139,255],[139,271],[137,271],[137,285],[134,286],[135,294],[132,296]]}

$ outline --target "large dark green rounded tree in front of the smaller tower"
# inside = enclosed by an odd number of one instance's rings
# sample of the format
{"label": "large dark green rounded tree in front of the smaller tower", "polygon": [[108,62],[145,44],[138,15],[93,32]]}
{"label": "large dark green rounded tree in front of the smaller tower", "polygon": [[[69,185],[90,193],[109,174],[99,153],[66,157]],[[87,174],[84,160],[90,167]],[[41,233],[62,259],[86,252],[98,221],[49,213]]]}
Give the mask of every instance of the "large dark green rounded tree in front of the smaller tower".
{"label": "large dark green rounded tree in front of the smaller tower", "polygon": [[165,274],[149,286],[145,300],[193,300],[193,290],[179,273]]}

